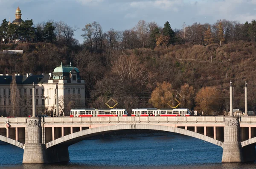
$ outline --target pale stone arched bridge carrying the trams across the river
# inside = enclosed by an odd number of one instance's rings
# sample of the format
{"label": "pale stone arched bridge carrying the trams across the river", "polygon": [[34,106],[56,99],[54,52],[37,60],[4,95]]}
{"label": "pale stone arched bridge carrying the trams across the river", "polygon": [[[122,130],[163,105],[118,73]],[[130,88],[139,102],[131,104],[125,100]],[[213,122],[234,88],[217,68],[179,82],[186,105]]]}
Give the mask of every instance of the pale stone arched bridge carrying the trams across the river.
{"label": "pale stone arched bridge carrying the trams across the river", "polygon": [[223,148],[222,162],[256,160],[256,117],[0,118],[0,141],[24,149],[23,163],[69,161],[68,146],[116,130],[175,132]]}

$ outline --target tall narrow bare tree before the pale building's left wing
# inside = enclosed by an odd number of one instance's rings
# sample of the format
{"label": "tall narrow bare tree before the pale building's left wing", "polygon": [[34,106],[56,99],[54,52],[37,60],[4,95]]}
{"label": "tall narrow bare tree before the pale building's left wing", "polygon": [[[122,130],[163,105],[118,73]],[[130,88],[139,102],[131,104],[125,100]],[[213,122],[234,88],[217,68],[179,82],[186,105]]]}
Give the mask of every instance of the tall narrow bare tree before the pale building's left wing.
{"label": "tall narrow bare tree before the pale building's left wing", "polygon": [[17,88],[17,83],[16,83],[16,76],[12,75],[12,83],[11,83],[11,108],[12,108],[12,116],[17,116],[18,115],[18,108],[20,104],[20,93]]}

